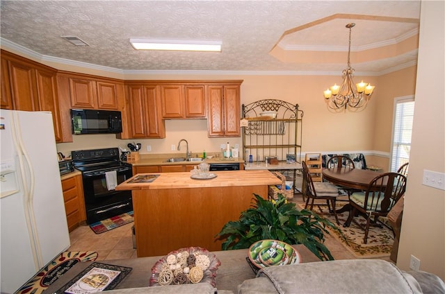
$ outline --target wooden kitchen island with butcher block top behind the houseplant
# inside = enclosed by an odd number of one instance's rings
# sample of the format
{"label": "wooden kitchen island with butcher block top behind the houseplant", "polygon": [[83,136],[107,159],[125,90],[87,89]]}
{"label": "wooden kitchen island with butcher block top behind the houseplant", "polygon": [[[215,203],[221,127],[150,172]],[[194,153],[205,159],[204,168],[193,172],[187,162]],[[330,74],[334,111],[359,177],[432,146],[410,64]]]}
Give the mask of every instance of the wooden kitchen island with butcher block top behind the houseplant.
{"label": "wooden kitchen island with butcher block top behind the houseplant", "polygon": [[[281,184],[270,171],[215,171],[216,178],[194,180],[191,173],[134,175],[117,190],[131,190],[138,257],[168,254],[198,246],[221,250],[215,236],[229,220],[238,220],[253,194],[267,198],[268,185]],[[141,175],[153,182],[133,182]]]}

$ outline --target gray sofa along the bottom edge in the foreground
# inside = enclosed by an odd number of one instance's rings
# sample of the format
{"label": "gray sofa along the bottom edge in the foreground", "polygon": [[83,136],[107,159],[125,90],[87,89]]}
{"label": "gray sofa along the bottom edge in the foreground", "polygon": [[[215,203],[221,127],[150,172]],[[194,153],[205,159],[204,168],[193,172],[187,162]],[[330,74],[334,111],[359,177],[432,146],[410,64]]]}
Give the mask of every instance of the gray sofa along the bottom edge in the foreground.
{"label": "gray sofa along the bottom edge in the foreground", "polygon": [[[107,293],[233,292],[220,291],[210,284],[200,283],[128,288]],[[265,268],[259,271],[257,277],[239,284],[238,293],[445,293],[445,284],[435,275],[403,272],[388,261],[353,259]]]}

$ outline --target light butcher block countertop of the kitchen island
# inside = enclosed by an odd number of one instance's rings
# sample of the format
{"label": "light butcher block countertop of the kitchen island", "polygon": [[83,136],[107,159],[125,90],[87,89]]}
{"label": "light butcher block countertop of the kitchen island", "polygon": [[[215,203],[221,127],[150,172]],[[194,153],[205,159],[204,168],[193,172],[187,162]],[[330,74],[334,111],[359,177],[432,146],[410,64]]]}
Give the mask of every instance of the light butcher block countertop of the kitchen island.
{"label": "light butcher block countertop of the kitchen island", "polygon": [[[147,190],[147,189],[180,189],[202,187],[236,187],[236,186],[261,186],[282,184],[281,180],[270,171],[211,171],[216,178],[209,180],[194,180],[191,173],[143,173],[134,175],[129,180],[121,183],[116,190]],[[153,182],[129,183],[140,175],[159,175]]]}

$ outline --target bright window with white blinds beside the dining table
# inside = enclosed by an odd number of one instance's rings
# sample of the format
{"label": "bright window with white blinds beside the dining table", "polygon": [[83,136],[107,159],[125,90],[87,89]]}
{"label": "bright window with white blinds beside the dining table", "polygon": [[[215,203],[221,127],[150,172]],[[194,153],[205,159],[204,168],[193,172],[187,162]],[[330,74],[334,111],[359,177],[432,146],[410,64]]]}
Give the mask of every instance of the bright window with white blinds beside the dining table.
{"label": "bright window with white blinds beside the dining table", "polygon": [[391,151],[391,171],[410,160],[414,96],[396,98]]}

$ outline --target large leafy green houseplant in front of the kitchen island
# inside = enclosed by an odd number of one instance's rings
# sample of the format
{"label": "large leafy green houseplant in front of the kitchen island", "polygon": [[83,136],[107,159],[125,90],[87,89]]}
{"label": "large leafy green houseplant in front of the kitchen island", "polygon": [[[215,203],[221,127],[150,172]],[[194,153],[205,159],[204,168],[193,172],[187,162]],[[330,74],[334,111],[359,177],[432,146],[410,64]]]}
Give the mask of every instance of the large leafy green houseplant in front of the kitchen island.
{"label": "large leafy green houseplant in front of the kitchen island", "polygon": [[[239,220],[229,221],[216,235],[226,239],[223,250],[249,248],[254,242],[275,239],[289,244],[303,244],[318,259],[333,260],[332,254],[323,244],[326,226],[337,229],[329,220],[312,211],[298,211],[295,203],[287,202],[282,194],[277,200],[264,200],[254,194],[252,207],[243,211]],[[337,229],[338,230],[338,229]]]}

